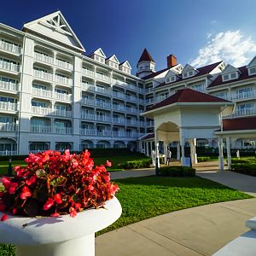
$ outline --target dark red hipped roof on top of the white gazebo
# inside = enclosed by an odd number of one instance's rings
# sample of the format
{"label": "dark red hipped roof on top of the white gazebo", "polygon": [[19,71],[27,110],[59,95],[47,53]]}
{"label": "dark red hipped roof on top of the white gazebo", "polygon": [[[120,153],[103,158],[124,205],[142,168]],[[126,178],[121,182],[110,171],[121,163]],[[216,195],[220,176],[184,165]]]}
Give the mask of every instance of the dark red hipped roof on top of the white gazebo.
{"label": "dark red hipped roof on top of the white gazebo", "polygon": [[164,101],[156,103],[152,108],[148,108],[148,111],[155,109],[155,108],[161,108],[167,105],[171,105],[173,103],[177,102],[229,102],[224,99],[220,99],[215,96],[211,96],[206,93],[202,93],[196,90],[192,90],[189,88],[177,90],[175,94],[172,96],[169,96]]}

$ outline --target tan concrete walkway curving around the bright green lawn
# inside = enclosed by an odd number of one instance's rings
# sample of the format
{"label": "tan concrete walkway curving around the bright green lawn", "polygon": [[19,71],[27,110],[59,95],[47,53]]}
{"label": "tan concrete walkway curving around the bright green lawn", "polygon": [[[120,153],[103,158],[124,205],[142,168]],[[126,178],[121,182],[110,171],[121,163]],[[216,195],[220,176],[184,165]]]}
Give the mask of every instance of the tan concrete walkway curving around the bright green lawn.
{"label": "tan concrete walkway curving around the bright green lawn", "polygon": [[[208,167],[215,171],[197,175],[256,195],[256,177]],[[256,198],[170,212],[96,237],[96,256],[212,255],[246,232],[245,222],[255,216]]]}

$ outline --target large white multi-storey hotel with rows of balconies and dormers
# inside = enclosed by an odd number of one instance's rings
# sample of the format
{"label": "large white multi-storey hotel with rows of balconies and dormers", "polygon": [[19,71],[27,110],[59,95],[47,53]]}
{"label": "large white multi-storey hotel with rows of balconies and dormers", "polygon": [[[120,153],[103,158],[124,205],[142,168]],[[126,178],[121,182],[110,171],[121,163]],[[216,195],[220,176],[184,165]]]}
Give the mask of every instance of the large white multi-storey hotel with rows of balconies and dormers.
{"label": "large white multi-storey hotel with rows of balconies and dormers", "polygon": [[[150,155],[154,121],[141,113],[184,88],[236,102],[223,116],[227,131],[256,129],[256,57],[246,67],[219,61],[195,68],[169,55],[166,68],[155,71],[144,49],[135,76],[116,55],[84,53],[60,11],[21,31],[0,23],[1,155],[126,147]],[[232,147],[255,148],[253,136],[237,136]],[[204,144],[216,147],[212,138],[197,138]]]}

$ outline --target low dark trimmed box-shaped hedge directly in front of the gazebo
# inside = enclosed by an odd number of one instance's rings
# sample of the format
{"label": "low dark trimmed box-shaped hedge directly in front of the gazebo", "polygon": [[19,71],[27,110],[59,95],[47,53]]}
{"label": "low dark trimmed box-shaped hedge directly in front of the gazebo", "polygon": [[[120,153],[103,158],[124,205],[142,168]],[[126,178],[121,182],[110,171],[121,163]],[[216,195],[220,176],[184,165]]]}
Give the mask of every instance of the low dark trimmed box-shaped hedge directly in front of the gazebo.
{"label": "low dark trimmed box-shaped hedge directly in front of the gazebo", "polygon": [[160,176],[193,177],[195,169],[188,166],[164,166],[160,167]]}

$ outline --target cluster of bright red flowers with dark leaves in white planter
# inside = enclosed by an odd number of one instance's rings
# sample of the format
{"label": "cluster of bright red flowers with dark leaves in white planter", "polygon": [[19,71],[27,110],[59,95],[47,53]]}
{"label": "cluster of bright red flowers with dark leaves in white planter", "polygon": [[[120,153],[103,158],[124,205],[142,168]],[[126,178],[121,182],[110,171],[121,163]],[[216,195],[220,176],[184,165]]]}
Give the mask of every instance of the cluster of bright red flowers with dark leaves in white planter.
{"label": "cluster of bright red flowers with dark leaves in white planter", "polygon": [[[48,150],[29,154],[27,166],[15,166],[15,177],[3,177],[0,212],[25,216],[52,216],[98,208],[113,197],[119,187],[110,182],[105,166],[94,166],[90,152],[70,154]],[[3,214],[1,220],[7,218]]]}

